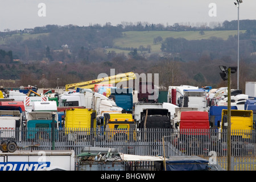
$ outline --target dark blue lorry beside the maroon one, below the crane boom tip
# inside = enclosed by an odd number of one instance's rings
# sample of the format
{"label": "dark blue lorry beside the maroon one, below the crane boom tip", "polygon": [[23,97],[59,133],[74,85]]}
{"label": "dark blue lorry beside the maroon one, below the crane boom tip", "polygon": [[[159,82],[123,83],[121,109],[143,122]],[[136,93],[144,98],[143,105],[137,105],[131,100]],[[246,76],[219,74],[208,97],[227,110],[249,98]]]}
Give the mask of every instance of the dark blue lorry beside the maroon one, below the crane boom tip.
{"label": "dark blue lorry beside the maroon one, below the crane boom tip", "polygon": [[127,113],[133,113],[133,89],[111,88],[110,98],[113,98],[117,106],[125,109]]}

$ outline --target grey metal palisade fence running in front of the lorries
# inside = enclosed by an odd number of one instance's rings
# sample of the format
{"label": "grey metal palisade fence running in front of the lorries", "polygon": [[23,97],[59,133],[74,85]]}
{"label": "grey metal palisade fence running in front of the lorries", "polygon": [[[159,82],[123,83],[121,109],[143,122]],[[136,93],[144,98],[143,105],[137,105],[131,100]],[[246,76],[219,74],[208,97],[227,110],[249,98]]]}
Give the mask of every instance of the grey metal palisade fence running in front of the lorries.
{"label": "grey metal palisade fence running in front of the lorries", "polygon": [[[255,131],[232,131],[231,137],[233,168],[255,170]],[[226,166],[227,132],[218,130],[1,129],[0,138],[1,143],[14,140],[17,150],[74,150],[77,155],[84,147],[108,147],[133,155],[197,155]]]}

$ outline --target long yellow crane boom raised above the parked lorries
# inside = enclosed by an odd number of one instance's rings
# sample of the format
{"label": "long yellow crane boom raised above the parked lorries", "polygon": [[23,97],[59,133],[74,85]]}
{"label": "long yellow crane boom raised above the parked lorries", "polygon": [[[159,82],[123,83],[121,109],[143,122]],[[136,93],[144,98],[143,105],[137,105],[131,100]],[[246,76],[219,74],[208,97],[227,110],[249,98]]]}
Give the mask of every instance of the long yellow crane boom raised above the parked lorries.
{"label": "long yellow crane boom raised above the parked lorries", "polygon": [[95,84],[114,84],[121,81],[134,80],[136,75],[133,72],[121,73],[114,76],[98,78],[96,80],[84,81],[75,84],[65,85],[65,90],[68,91],[69,88],[82,88],[82,89],[92,89]]}

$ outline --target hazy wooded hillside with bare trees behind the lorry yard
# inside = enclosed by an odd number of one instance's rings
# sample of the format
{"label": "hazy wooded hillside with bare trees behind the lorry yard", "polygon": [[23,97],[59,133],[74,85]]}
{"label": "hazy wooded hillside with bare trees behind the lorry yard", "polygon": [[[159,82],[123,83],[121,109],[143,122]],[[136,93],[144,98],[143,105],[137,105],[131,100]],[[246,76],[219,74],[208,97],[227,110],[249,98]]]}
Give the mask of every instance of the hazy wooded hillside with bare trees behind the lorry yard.
{"label": "hazy wooded hillside with bare trees behind the lorry yard", "polygon": [[[212,30],[235,30],[235,24],[236,21],[225,21]],[[253,71],[256,68],[255,21],[241,20],[241,24],[245,26],[243,29],[246,32],[240,34],[240,85],[256,77]],[[125,22],[119,26],[111,26],[110,23],[88,27],[47,25],[34,28],[31,34],[46,33],[34,39],[23,39],[22,31],[12,36],[11,31],[0,32],[1,40],[6,42],[0,46],[0,78],[20,80],[16,86],[54,87],[57,78],[61,78],[59,85],[64,86],[73,82],[93,80],[98,74],[110,74],[110,68],[115,68],[118,73],[159,73],[159,83],[163,88],[181,84],[213,87],[225,85],[219,76],[218,65],[236,65],[236,35],[230,35],[227,40],[216,37],[202,40],[152,38],[152,42],[161,44],[162,53],[148,55],[142,52],[150,52],[150,47],[129,48],[127,55],[107,52],[105,49],[113,47],[113,40],[121,38],[123,31],[168,30],[170,27],[173,28],[172,31],[193,28],[189,24],[178,23],[173,26]],[[199,24],[196,28],[201,28],[201,31],[209,30],[205,24]],[[16,59],[25,60],[25,64],[14,61]],[[232,83],[236,84],[236,76],[233,77]]]}

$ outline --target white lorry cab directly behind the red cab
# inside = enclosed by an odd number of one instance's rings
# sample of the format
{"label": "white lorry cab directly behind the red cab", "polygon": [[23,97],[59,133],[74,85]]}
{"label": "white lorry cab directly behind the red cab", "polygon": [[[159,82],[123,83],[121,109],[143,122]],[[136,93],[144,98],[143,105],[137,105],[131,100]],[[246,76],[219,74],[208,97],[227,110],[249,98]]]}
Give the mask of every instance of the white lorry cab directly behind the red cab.
{"label": "white lorry cab directly behind the red cab", "polygon": [[196,107],[200,111],[207,111],[207,97],[204,89],[185,89],[179,97],[179,107]]}

